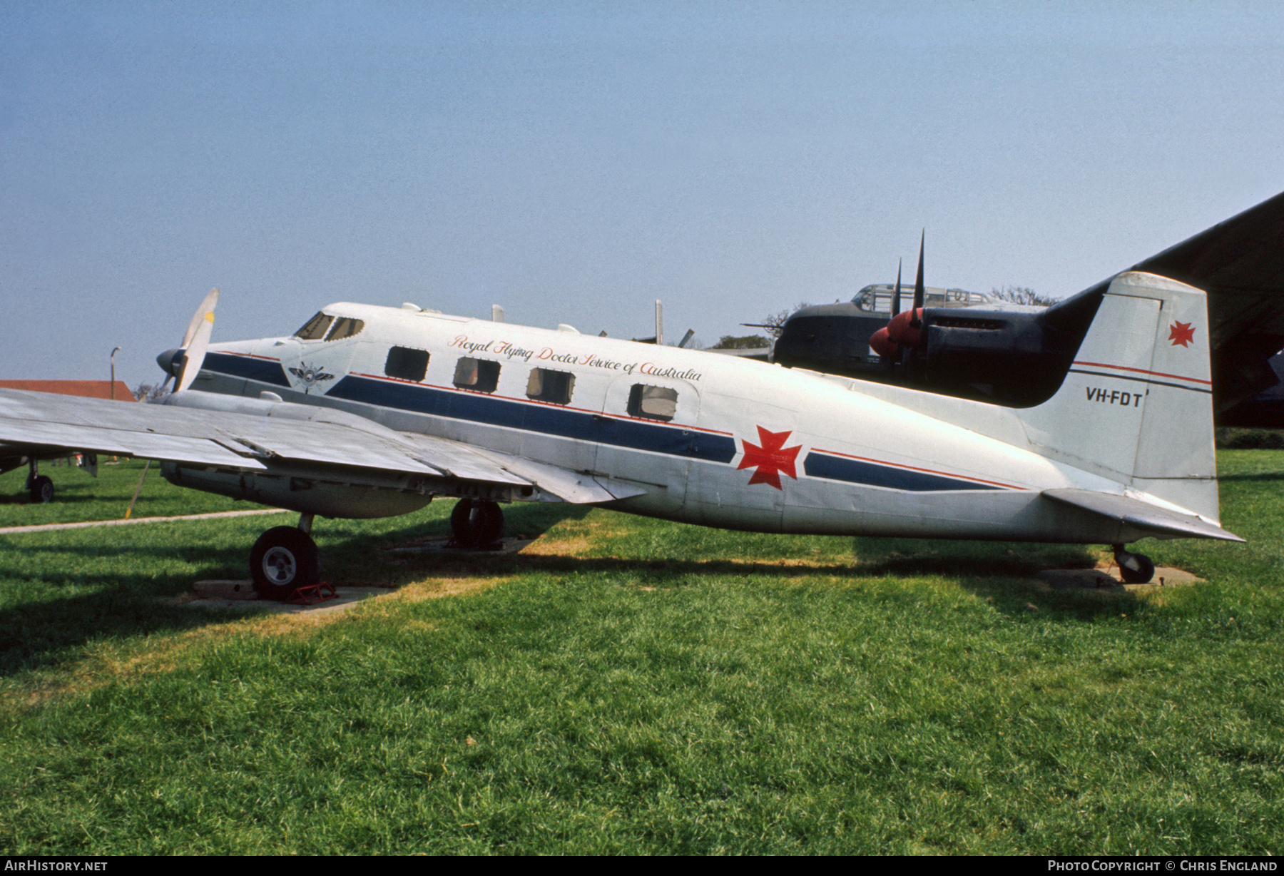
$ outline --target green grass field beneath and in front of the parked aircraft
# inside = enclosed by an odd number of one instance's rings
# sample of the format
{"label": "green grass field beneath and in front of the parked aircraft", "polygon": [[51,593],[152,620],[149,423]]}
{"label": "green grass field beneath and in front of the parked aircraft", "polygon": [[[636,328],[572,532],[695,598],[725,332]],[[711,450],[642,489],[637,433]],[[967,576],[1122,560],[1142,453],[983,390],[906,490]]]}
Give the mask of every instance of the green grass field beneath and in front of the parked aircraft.
{"label": "green grass field beneath and in front of the parked aircraft", "polygon": [[318,620],[166,601],[263,518],[0,536],[0,850],[1278,853],[1284,452],[1219,459],[1249,543],[1143,542],[1208,578],[1148,593],[548,505],[521,554],[385,550],[442,502],[318,521],[397,588]]}

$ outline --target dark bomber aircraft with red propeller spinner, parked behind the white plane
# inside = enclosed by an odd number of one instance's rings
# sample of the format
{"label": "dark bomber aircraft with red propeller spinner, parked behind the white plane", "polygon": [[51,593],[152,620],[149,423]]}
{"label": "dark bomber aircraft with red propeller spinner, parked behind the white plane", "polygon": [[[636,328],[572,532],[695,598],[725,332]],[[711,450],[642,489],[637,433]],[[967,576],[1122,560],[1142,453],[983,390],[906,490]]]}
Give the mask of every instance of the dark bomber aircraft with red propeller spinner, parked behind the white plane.
{"label": "dark bomber aircraft with red propeller spinner, parked behind the white plane", "polygon": [[[1266,393],[1280,378],[1284,348],[1284,194],[1134,265],[1208,293],[1213,399],[1224,425],[1284,428],[1284,398]],[[794,313],[772,361],[926,392],[1030,407],[1049,398],[1073,361],[1109,280],[1048,308],[942,301],[922,307],[913,343],[877,356],[868,340],[891,286],[871,286],[849,304]],[[878,289],[877,303],[867,293]],[[908,292],[908,290],[907,290]],[[899,310],[899,308],[896,308]],[[903,340],[907,339],[903,337]],[[1279,361],[1276,361],[1279,365]]]}

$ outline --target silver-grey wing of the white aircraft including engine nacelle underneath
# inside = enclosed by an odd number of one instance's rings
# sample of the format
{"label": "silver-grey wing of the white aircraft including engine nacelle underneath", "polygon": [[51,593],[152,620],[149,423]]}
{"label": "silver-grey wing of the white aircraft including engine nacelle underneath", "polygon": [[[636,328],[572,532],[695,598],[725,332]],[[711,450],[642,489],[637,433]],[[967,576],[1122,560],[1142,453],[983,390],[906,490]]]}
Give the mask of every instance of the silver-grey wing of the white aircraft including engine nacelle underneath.
{"label": "silver-grey wing of the white aircraft including engine nacelle underneath", "polygon": [[386,516],[433,496],[610,502],[630,484],[401,433],[334,408],[181,392],[164,405],[0,389],[0,456],[160,460],[196,489],[325,516]]}

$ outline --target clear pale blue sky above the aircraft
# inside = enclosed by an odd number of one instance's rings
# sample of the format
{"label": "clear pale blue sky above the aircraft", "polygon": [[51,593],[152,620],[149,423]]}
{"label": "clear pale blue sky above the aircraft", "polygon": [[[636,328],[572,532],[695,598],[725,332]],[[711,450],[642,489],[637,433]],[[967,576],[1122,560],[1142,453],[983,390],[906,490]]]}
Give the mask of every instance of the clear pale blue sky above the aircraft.
{"label": "clear pale blue sky above the aircraft", "polygon": [[0,5],[0,378],[333,301],[711,343],[1063,295],[1284,190],[1284,5]]}

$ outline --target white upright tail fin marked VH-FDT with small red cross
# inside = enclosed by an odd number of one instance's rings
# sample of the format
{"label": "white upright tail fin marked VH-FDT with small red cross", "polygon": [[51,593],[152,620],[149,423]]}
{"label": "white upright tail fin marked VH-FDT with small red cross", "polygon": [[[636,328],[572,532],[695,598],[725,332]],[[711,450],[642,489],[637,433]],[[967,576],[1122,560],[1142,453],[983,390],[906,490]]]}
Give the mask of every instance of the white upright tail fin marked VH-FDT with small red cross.
{"label": "white upright tail fin marked VH-FDT with small red cross", "polygon": [[1043,456],[1220,519],[1199,289],[1140,271],[1115,277],[1061,389],[1018,419]]}

